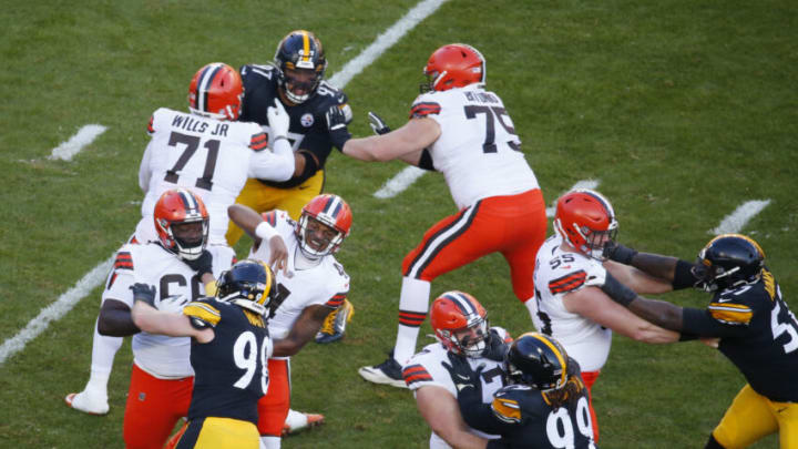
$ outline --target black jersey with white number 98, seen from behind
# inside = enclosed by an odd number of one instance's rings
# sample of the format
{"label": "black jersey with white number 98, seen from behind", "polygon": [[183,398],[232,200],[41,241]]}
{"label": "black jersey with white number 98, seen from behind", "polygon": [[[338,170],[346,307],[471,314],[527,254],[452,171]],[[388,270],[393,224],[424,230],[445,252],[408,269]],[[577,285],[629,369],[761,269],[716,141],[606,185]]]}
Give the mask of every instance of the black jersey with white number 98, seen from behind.
{"label": "black jersey with white number 98, seen from behind", "polygon": [[188,303],[183,314],[197,327],[213,327],[215,334],[209,343],[192,340],[188,419],[212,416],[257,425],[257,401],[268,389],[266,361],[273,350],[265,319],[214,298]]}

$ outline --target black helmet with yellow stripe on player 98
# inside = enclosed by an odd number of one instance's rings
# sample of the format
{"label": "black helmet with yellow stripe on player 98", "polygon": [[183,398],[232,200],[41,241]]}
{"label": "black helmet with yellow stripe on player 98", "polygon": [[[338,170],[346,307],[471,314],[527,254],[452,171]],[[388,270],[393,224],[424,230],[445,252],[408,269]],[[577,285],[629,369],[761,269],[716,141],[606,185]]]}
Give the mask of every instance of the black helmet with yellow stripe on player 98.
{"label": "black helmet with yellow stripe on player 98", "polygon": [[244,259],[222,273],[217,280],[216,298],[266,316],[274,299],[275,276],[263,262]]}

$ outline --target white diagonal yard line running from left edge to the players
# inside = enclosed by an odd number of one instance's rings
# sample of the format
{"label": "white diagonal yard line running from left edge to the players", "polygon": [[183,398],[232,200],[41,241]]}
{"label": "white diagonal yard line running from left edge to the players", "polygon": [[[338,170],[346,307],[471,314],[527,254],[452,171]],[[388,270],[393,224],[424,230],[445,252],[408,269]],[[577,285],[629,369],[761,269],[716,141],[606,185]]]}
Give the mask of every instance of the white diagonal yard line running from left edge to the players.
{"label": "white diagonal yard line running from left edge to the players", "polygon": [[2,366],[9,357],[22,350],[28,341],[44,331],[44,329],[47,329],[50,325],[50,322],[58,320],[62,316],[66,315],[66,313],[70,312],[79,300],[83,299],[83,297],[91,293],[94,287],[102,284],[103,279],[111,269],[113,262],[114,256],[111,256],[108,261],[95,266],[91,272],[83,276],[82,279],[78,280],[74,287],[59,296],[54,303],[41,309],[39,316],[31,319],[24,329],[3,341],[2,346],[0,346],[0,366]]}

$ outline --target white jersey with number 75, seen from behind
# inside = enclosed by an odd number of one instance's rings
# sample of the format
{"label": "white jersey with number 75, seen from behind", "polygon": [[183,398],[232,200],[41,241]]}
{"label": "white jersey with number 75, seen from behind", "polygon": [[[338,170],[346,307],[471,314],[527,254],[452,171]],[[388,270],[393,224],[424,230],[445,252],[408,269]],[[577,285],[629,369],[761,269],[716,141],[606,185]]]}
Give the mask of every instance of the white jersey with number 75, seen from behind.
{"label": "white jersey with number 75, seen from behind", "polygon": [[440,137],[428,150],[458,208],[539,187],[504,103],[482,84],[423,93],[410,113],[440,125]]}

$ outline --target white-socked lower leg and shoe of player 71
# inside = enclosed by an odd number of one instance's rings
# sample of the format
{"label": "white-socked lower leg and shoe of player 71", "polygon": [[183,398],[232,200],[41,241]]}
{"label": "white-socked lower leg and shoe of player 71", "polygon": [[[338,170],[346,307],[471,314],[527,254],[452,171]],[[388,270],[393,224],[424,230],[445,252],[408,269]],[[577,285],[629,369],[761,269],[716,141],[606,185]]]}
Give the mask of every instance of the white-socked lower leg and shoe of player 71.
{"label": "white-socked lower leg and shoe of player 71", "polygon": [[122,337],[100,335],[94,322],[92,339],[92,364],[89,382],[81,392],[71,392],[64,400],[75,410],[91,415],[105,415],[109,411],[108,382],[113,368],[113,359],[122,347]]}

